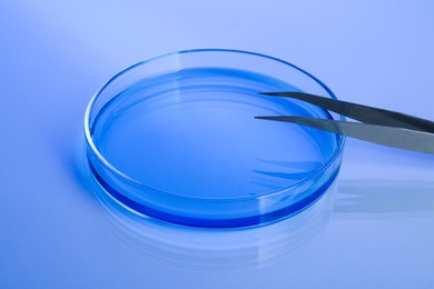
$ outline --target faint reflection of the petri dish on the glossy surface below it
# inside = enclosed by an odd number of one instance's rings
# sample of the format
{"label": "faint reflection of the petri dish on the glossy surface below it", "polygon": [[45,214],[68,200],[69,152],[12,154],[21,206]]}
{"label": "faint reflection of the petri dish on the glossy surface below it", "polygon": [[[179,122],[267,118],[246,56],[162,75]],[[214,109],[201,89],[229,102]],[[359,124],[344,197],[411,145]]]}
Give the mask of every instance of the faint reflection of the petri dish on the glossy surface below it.
{"label": "faint reflection of the petri dish on the glossy surface below it", "polygon": [[[90,175],[88,170],[83,172]],[[328,223],[336,195],[334,182],[315,206],[268,226],[204,230],[170,226],[130,212],[110,198],[95,178],[90,185],[124,246],[147,262],[191,273],[253,272],[293,259]]]}

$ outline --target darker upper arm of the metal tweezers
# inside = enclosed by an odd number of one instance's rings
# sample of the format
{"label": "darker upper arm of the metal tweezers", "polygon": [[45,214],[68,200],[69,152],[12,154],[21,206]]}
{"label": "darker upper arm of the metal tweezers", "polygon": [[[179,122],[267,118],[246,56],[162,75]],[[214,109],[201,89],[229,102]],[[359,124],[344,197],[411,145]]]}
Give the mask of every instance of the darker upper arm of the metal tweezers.
{"label": "darker upper arm of the metal tweezers", "polygon": [[323,98],[303,92],[265,92],[264,96],[287,97],[303,100],[329,111],[368,124],[406,128],[434,133],[434,122],[385,109],[367,107],[342,100]]}

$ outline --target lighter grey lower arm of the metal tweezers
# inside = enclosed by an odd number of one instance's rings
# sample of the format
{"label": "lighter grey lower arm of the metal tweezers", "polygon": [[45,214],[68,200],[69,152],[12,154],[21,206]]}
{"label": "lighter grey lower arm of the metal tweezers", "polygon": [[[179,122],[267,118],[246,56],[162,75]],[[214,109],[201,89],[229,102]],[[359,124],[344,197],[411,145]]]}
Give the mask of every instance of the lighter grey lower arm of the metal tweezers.
{"label": "lighter grey lower arm of the metal tweezers", "polygon": [[383,127],[358,122],[346,122],[303,117],[256,117],[307,126],[374,143],[434,155],[434,134],[413,129]]}

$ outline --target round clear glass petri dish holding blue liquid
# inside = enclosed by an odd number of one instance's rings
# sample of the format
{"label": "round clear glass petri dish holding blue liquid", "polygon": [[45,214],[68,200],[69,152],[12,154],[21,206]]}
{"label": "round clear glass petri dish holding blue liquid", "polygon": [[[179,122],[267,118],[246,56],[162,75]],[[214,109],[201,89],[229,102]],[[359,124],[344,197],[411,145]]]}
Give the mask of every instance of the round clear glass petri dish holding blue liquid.
{"label": "round clear glass petri dish holding blue liquid", "polygon": [[332,118],[264,91],[334,98],[282,60],[189,50],[146,60],[107,82],[85,119],[88,158],[128,209],[198,227],[256,226],[317,200],[335,179],[344,137],[255,116]]}

